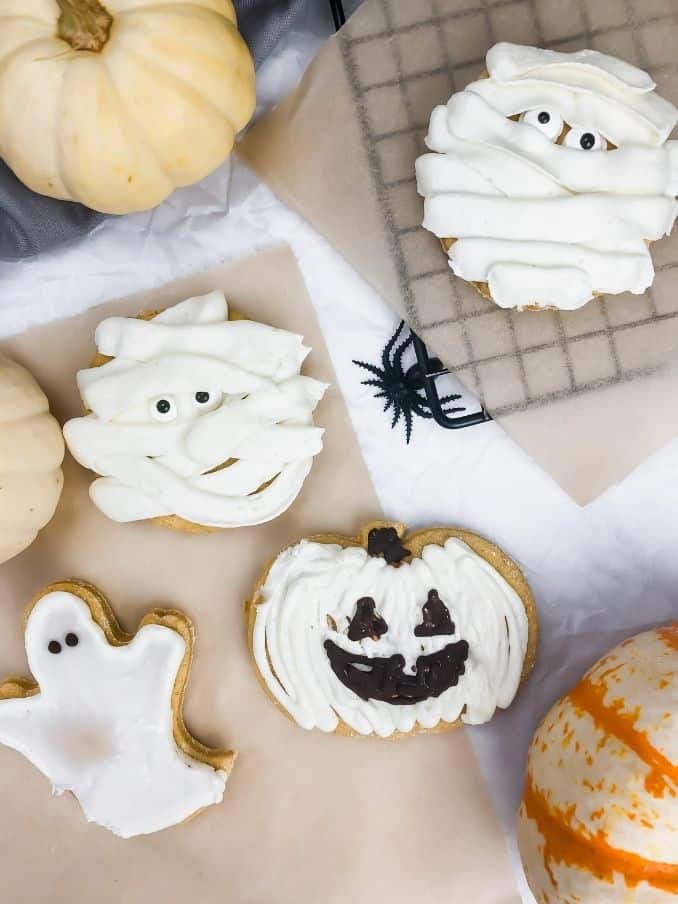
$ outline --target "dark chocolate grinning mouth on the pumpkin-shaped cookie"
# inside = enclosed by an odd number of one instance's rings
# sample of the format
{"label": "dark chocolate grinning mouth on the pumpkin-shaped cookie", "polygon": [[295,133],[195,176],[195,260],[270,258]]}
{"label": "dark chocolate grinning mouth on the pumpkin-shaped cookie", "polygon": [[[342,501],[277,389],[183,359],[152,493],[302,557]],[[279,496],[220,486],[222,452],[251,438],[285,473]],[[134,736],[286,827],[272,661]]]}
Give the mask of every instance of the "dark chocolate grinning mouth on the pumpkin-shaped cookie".
{"label": "dark chocolate grinning mouth on the pumpkin-shaped cookie", "polygon": [[394,706],[408,706],[439,697],[454,687],[466,668],[468,643],[457,640],[435,653],[417,657],[413,675],[404,671],[405,659],[393,656],[357,656],[325,641],[332,671],[354,694],[363,700],[382,700]]}

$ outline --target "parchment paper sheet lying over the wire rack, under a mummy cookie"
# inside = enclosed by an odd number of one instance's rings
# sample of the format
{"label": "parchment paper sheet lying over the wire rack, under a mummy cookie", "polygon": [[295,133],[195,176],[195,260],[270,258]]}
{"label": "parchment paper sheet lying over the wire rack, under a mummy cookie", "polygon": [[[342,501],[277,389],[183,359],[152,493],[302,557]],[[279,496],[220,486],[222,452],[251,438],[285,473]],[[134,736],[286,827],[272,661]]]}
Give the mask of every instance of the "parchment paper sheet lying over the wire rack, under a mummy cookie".
{"label": "parchment paper sheet lying over the wire rack, under a mummy cookie", "polygon": [[[580,503],[676,433],[678,233],[653,246],[643,296],[502,311],[420,227],[414,161],[432,108],[478,77],[496,41],[617,54],[676,102],[677,38],[670,2],[367,0],[240,151]],[[591,429],[572,429],[580,412]],[[611,436],[623,455],[606,454]]]}

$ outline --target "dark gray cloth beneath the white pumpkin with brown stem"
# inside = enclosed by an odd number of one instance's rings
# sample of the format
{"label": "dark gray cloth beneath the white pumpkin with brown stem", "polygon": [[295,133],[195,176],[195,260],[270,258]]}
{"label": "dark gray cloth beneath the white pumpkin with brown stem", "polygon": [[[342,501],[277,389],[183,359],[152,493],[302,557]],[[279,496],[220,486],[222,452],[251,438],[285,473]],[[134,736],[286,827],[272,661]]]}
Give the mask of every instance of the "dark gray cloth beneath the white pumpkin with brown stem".
{"label": "dark gray cloth beneath the white pumpkin with brown stem", "polygon": [[[266,59],[308,3],[323,2],[235,0],[240,30],[255,65]],[[81,204],[36,195],[0,161],[0,260],[39,254],[91,231],[102,219],[102,214]]]}

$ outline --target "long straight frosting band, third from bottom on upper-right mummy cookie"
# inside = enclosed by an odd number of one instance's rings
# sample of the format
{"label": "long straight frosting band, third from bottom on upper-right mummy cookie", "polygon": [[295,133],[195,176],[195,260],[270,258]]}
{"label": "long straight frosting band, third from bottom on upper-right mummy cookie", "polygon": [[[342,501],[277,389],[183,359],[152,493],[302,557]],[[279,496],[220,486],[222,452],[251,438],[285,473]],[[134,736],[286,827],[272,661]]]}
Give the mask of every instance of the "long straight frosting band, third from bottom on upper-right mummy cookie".
{"label": "long straight frosting band, third from bottom on upper-right mummy cookie", "polygon": [[676,204],[668,198],[573,195],[566,198],[489,198],[450,192],[426,198],[424,226],[439,238],[456,236],[586,243],[660,239],[671,229]]}

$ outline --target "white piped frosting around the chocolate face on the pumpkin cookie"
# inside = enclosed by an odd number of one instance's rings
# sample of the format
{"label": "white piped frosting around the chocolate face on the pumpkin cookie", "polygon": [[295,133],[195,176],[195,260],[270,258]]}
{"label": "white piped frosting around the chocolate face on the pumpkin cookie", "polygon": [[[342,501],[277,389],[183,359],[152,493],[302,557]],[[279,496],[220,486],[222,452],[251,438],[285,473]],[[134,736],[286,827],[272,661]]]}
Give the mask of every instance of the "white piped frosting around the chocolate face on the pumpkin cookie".
{"label": "white piped frosting around the chocolate face on the pumpkin cookie", "polygon": [[[417,637],[422,605],[436,589],[453,635]],[[356,602],[371,597],[388,630],[378,640],[351,641]],[[413,672],[421,655],[466,640],[469,656],[459,683],[412,705],[363,700],[332,671],[323,646],[331,640],[356,655],[405,657]],[[334,731],[341,719],[359,734],[388,737],[416,724],[434,728],[462,718],[490,719],[513,700],[528,640],[524,605],[504,578],[461,540],[431,544],[399,567],[362,547],[303,540],[271,567],[256,606],[254,659],[267,688],[303,728]]]}

